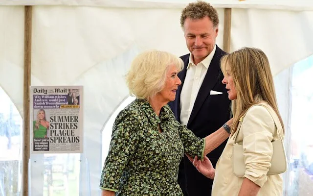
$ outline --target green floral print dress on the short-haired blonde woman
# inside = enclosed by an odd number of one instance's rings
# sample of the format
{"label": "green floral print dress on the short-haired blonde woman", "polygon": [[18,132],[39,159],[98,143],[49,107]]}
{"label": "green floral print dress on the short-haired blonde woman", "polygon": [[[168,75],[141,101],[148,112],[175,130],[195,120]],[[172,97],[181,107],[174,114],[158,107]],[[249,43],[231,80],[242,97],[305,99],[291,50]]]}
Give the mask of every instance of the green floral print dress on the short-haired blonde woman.
{"label": "green floral print dress on the short-haired blonde woman", "polygon": [[158,117],[149,102],[135,99],[115,119],[100,188],[116,196],[183,196],[180,160],[183,153],[202,159],[204,143],[168,105]]}

